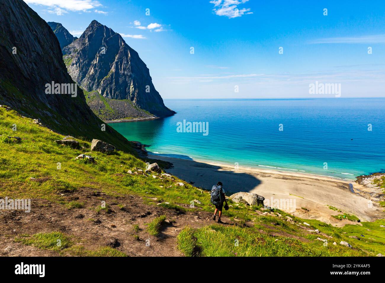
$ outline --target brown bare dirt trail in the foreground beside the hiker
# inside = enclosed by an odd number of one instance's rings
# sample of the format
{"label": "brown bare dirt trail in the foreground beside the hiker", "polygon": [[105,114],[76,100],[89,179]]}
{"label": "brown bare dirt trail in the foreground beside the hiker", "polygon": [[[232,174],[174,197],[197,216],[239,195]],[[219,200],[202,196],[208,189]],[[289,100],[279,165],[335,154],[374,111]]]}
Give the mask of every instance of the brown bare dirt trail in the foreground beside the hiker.
{"label": "brown bare dirt trail in the foreground beside the hiker", "polygon": [[[29,213],[0,211],[0,256],[59,256],[55,251],[14,242],[15,237],[21,234],[53,231],[71,236],[75,245],[80,244],[87,250],[111,246],[129,256],[181,256],[176,248],[176,236],[181,229],[185,225],[198,228],[214,223],[207,220],[212,213],[201,211],[200,208],[179,213],[172,209],[147,205],[141,197],[134,195],[113,197],[82,188],[63,197],[67,201],[84,203],[84,208],[68,209],[45,199],[32,199]],[[105,201],[110,212],[96,211],[101,201]],[[121,208],[118,204],[124,207]],[[159,236],[150,236],[145,224],[161,215],[166,215],[170,224],[162,225]],[[234,224],[225,217],[222,221],[228,225]],[[140,231],[137,233],[134,231],[134,224],[139,225]],[[138,235],[139,239],[134,235]],[[150,239],[149,246],[146,246],[146,239]]]}

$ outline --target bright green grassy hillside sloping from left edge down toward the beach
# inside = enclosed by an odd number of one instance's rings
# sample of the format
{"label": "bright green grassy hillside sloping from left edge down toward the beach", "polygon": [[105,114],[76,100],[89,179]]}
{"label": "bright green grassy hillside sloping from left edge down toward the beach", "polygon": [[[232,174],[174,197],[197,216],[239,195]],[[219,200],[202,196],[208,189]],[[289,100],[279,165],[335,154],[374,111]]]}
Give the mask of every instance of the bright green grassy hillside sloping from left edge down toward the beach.
{"label": "bright green grassy hillside sloping from left edge down toward the beach", "polygon": [[[12,131],[12,125],[17,124],[17,131]],[[145,161],[137,159],[134,155],[117,151],[115,154],[106,155],[92,152],[96,157],[96,164],[87,164],[75,161],[80,153],[88,152],[90,142],[79,140],[85,149],[71,149],[59,146],[55,139],[62,139],[62,135],[49,129],[33,124],[32,119],[22,118],[15,111],[6,111],[0,108],[0,135],[18,136],[21,143],[8,143],[7,139],[0,139],[0,196],[4,198],[42,198],[60,203],[66,208],[76,209],[81,206],[77,203],[64,201],[60,192],[70,192],[78,188],[92,188],[103,191],[109,195],[137,194],[147,202],[156,205],[157,202],[168,208],[185,210],[178,204],[190,204],[193,199],[201,201],[196,207],[206,211],[213,211],[209,202],[209,193],[185,184],[184,187],[175,186],[171,179],[153,179],[144,175],[127,174],[133,167],[145,168]],[[57,169],[57,162],[61,169]],[[39,183],[32,182],[29,178],[48,178]],[[162,187],[161,187],[162,186]],[[170,187],[171,186],[171,187]],[[167,188],[169,187],[169,188]],[[158,198],[155,202],[150,198]],[[229,204],[233,204],[229,201]],[[32,204],[33,205],[33,204]],[[196,208],[189,208],[194,210]],[[282,217],[260,215],[255,210],[258,207],[233,207],[224,211],[224,215],[237,220],[238,226],[210,225],[199,229],[185,228],[179,238],[179,248],[185,255],[202,256],[251,256],[251,255],[312,255],[312,256],[364,256],[385,254],[385,233],[380,224],[385,225],[385,220],[373,223],[346,225],[336,228],[317,220],[303,220],[291,216],[295,223],[285,221],[289,214],[275,210]],[[254,223],[252,227],[243,225],[245,221]],[[328,246],[316,238],[325,239],[320,234],[311,234],[302,229],[304,221],[311,226],[308,229],[319,229],[333,238],[328,238]],[[353,223],[353,222],[352,222]],[[154,223],[154,227],[156,226]],[[250,226],[250,225],[249,225]],[[151,228],[151,226],[150,226]],[[156,228],[156,227],[155,227]],[[368,230],[370,231],[368,231]],[[156,231],[156,229],[154,229]],[[54,231],[52,231],[54,232]],[[346,234],[344,234],[344,232]],[[363,234],[365,237],[360,236]],[[361,240],[348,238],[357,236]],[[239,245],[234,245],[238,239]],[[275,241],[278,239],[278,241]],[[28,239],[17,239],[25,244],[41,244],[42,248],[55,248],[50,243],[50,235],[33,235]],[[347,241],[353,249],[333,246],[333,241]],[[46,243],[47,242],[47,243]],[[72,250],[71,250],[72,249]],[[71,255],[120,255],[114,250],[91,251],[67,248]]]}

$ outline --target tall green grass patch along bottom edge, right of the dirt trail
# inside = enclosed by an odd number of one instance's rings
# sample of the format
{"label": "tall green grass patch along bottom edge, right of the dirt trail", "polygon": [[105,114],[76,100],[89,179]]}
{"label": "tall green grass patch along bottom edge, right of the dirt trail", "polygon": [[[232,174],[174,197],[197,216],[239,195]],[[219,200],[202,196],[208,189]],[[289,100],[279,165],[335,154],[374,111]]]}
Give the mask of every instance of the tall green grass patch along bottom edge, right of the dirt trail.
{"label": "tall green grass patch along bottom edge, right of the dirt trail", "polygon": [[[278,240],[278,241],[276,241]],[[186,256],[363,256],[331,242],[323,246],[316,239],[272,236],[257,229],[209,225],[199,229],[184,228],[178,236],[178,248]]]}

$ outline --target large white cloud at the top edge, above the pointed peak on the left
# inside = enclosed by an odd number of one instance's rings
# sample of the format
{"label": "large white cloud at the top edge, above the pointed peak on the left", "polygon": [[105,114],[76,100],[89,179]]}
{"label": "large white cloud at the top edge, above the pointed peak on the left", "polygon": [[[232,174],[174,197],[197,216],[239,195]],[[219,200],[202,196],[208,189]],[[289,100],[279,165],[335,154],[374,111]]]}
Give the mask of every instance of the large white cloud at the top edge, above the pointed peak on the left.
{"label": "large white cloud at the top edge, above the pointed peak on the left", "polygon": [[[103,6],[97,0],[24,0],[27,4],[43,5],[50,8],[49,13],[67,13],[67,11],[90,12],[90,9]],[[60,9],[60,11],[58,10]],[[58,14],[59,15],[59,14]]]}

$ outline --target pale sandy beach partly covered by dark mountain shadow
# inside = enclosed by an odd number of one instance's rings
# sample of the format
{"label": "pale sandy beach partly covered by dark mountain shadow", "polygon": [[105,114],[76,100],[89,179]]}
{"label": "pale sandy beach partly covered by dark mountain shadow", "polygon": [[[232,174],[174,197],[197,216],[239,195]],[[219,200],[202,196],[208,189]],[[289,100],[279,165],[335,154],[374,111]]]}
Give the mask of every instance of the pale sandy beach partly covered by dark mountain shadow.
{"label": "pale sandy beach partly covered by dark mountain shadow", "polygon": [[[265,205],[271,198],[290,200],[292,203],[295,200],[295,210],[283,210],[301,218],[318,219],[343,226],[357,222],[337,220],[332,215],[348,213],[357,216],[361,221],[374,221],[385,217],[383,208],[376,202],[377,199],[370,195],[373,193],[371,189],[355,181],[241,166],[235,169],[223,164],[165,156],[151,157],[171,162],[174,167],[167,169],[167,172],[187,182],[193,182],[196,187],[211,189],[216,182],[221,181],[228,196],[239,191],[256,193],[265,198]],[[354,192],[349,188],[349,184],[353,185]],[[329,206],[342,212],[330,209]]]}

